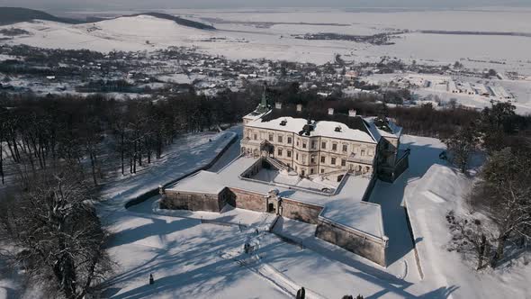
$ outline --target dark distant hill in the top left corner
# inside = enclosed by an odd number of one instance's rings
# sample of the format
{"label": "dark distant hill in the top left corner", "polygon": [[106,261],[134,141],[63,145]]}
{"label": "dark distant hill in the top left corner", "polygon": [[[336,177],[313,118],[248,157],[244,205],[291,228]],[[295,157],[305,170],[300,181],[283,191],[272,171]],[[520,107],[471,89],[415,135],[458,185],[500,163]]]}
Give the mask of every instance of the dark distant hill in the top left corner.
{"label": "dark distant hill in the top left corner", "polygon": [[21,7],[0,7],[0,25],[11,25],[14,23],[30,22],[33,20],[45,20],[60,23],[85,23],[80,20],[59,18],[55,15],[47,14],[41,11],[21,8]]}

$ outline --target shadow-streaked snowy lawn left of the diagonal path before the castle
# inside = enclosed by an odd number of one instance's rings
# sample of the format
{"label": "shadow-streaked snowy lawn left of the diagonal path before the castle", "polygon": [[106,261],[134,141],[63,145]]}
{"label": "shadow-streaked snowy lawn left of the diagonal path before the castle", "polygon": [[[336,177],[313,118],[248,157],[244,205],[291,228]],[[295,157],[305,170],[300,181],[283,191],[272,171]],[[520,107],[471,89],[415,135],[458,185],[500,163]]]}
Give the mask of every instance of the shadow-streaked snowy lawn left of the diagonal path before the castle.
{"label": "shadow-streaked snowy lawn left of the diagonal path before the castle", "polygon": [[[103,293],[112,298],[278,298],[274,285],[222,254],[246,239],[238,226],[128,213],[109,245],[119,270]],[[148,285],[153,274],[155,285]]]}

